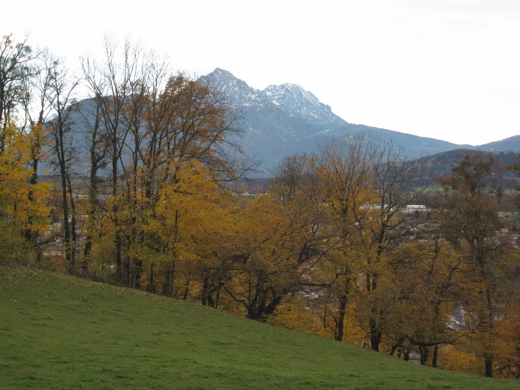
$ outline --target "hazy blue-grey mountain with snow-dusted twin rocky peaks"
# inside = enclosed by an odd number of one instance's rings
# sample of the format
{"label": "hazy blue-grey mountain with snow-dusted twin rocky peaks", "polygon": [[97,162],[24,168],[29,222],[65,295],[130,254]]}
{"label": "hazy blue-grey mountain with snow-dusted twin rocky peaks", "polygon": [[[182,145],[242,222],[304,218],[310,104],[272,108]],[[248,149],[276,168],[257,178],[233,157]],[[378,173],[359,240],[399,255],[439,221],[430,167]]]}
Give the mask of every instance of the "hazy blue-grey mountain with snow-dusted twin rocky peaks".
{"label": "hazy blue-grey mountain with snow-dusted twin rocky peaks", "polygon": [[331,107],[319,101],[313,93],[296,84],[269,85],[259,90],[220,68],[203,77],[211,80],[241,113],[246,129],[241,140],[244,149],[263,161],[265,167],[275,166],[287,154],[311,151],[329,136],[358,133],[366,133],[382,142],[392,141],[395,146],[404,148],[410,159],[454,149],[520,150],[520,136],[480,146],[457,145],[444,140],[348,123],[335,115]]}

